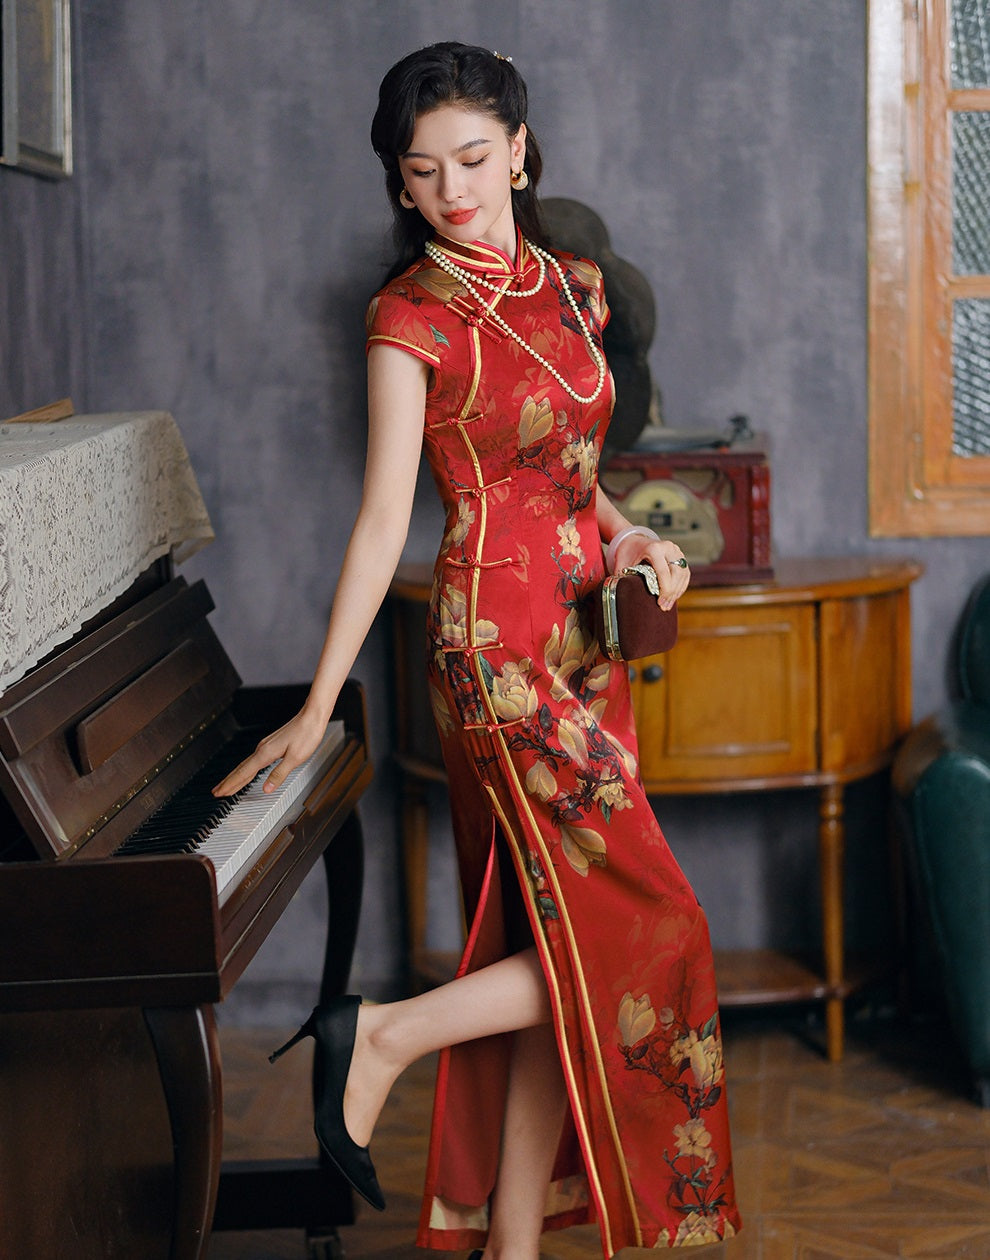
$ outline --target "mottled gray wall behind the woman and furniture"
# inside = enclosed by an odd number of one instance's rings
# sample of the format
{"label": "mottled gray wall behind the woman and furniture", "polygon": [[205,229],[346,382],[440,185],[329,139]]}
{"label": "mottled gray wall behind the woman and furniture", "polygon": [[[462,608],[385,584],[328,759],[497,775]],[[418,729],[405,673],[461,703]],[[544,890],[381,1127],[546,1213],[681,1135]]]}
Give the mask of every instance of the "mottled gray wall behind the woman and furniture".
{"label": "mottled gray wall behind the woman and furniture", "polygon": [[[73,392],[176,417],[218,541],[190,568],[249,682],[310,674],[358,504],[361,316],[387,256],[377,84],[433,39],[514,57],[543,192],[592,204],[654,286],[669,423],[744,411],[772,442],[780,553],[908,553],[916,711],[985,539],[867,529],[865,5],[849,0],[81,0],[78,174],[0,170],[0,415]],[[408,556],[431,558],[423,481]],[[355,982],[401,958],[380,627],[356,673],[379,765]],[[814,939],[815,799],[668,800],[722,945]],[[884,930],[878,785],[850,791],[853,935]],[[442,828],[438,827],[438,834]],[[456,932],[438,845],[433,925]],[[321,949],[319,879],[252,966],[239,1018],[290,1018]]]}

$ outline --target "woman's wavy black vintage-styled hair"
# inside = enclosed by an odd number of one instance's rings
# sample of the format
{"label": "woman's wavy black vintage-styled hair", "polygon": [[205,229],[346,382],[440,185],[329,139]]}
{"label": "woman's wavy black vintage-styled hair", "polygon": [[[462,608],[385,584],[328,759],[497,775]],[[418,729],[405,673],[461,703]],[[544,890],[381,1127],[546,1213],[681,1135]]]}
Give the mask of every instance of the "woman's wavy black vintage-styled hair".
{"label": "woman's wavy black vintage-styled hair", "polygon": [[[431,44],[403,57],[382,79],[378,108],[372,120],[372,146],[385,168],[385,190],[394,215],[393,239],[398,257],[389,278],[398,276],[422,257],[432,227],[417,209],[407,210],[399,202],[403,189],[399,158],[412,144],[416,120],[445,105],[458,105],[489,113],[511,137],[526,121],[526,86],[519,71],[504,57],[487,48],[470,44]],[[523,236],[547,247],[547,233],[537,200],[537,184],[543,170],[539,145],[526,130],[524,170],[529,186],[513,189],[513,212]]]}

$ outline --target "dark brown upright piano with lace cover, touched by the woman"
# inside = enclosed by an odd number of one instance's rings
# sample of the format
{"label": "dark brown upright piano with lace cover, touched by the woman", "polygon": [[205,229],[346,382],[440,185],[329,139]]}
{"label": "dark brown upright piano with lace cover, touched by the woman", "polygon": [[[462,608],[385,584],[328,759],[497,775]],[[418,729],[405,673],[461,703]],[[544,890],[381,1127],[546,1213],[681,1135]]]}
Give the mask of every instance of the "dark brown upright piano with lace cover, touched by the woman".
{"label": "dark brown upright piano with lace cover, touched by the woman", "polygon": [[[107,462],[137,476],[137,499],[161,494],[147,470],[161,444],[147,438],[169,430],[174,442],[171,417],[63,421],[42,460],[30,447],[47,435],[14,428],[0,427],[0,1256],[195,1260],[214,1225],[299,1225],[314,1240],[327,1227],[331,1247],[331,1227],[353,1220],[331,1169],[222,1160],[214,1008],[317,859],[330,906],[321,998],[346,987],[363,868],[355,806],[372,772],[360,687],[344,688],[320,750],[277,793],[259,776],[218,803],[209,788],[305,688],[241,687],[205,586],[175,575],[190,530],[181,457],[179,509],[135,524],[121,508]],[[59,479],[87,459],[101,484],[79,484],[84,501],[62,520],[73,505]],[[52,646],[59,630],[39,592],[57,598],[63,557],[49,552],[42,575],[35,553],[19,571],[11,547],[19,530],[33,547],[28,536],[57,517],[59,546],[68,525],[77,551],[116,551],[84,537],[103,508],[102,529],[136,536],[130,554],[88,582],[108,592],[102,606],[87,593],[84,622]],[[37,633],[19,633],[11,610],[31,609]],[[55,620],[71,629],[77,611]]]}

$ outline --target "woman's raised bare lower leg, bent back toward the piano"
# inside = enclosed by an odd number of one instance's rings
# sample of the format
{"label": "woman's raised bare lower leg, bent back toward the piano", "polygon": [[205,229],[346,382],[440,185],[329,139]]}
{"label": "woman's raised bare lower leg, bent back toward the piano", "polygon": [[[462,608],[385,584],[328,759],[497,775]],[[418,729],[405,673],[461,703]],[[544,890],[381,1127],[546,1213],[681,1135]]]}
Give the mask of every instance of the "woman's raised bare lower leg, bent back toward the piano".
{"label": "woman's raised bare lower leg, bent back toward the piano", "polygon": [[395,1079],[423,1055],[476,1037],[547,1024],[549,1018],[547,980],[535,949],[414,998],[363,1005],[344,1092],[348,1133],[358,1145],[367,1145]]}

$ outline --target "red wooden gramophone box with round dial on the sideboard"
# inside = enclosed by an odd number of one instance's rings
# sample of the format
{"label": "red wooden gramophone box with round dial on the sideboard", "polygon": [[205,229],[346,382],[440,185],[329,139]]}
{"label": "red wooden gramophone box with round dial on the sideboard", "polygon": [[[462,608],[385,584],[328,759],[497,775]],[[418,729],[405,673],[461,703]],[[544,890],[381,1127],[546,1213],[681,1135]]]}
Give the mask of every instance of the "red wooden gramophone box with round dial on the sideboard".
{"label": "red wooden gramophone box with round dial on the sideboard", "polygon": [[773,577],[770,465],[760,435],[722,446],[625,451],[600,479],[634,525],[678,542],[695,585]]}

